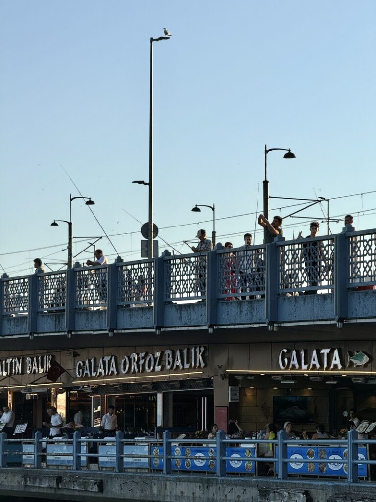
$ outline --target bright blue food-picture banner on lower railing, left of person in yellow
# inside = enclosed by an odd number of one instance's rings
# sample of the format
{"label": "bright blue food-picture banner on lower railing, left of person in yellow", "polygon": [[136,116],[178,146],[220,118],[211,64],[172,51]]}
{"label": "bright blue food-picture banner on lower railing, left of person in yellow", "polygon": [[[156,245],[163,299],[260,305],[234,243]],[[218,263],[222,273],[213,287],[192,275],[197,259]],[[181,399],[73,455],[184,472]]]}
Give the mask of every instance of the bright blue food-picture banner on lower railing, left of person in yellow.
{"label": "bright blue food-picture banner on lower railing, left of person in yellow", "polygon": [[[152,445],[151,453],[152,455],[163,455],[163,446]],[[173,470],[214,472],[217,469],[216,446],[195,447],[172,445],[171,454],[175,457],[181,457],[172,459]],[[256,456],[255,447],[227,447],[226,456],[233,458],[233,460],[226,461],[226,472],[255,474],[255,462],[251,460],[238,460],[242,457],[249,459],[254,458]],[[161,458],[153,458],[151,463],[153,469],[163,468],[163,460]]]}

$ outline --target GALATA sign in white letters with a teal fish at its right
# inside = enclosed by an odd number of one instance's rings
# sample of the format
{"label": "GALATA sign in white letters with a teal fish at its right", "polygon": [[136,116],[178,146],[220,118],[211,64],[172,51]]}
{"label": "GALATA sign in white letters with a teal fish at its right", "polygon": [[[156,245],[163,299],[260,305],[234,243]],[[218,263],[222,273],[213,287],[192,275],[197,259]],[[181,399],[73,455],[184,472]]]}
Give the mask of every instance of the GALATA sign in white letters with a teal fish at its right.
{"label": "GALATA sign in white letters with a teal fish at its right", "polygon": [[313,349],[310,353],[306,349],[290,350],[284,348],[278,356],[281,369],[303,370],[335,370],[364,366],[369,357],[364,352],[350,353],[346,351],[345,358],[341,357],[338,348]]}

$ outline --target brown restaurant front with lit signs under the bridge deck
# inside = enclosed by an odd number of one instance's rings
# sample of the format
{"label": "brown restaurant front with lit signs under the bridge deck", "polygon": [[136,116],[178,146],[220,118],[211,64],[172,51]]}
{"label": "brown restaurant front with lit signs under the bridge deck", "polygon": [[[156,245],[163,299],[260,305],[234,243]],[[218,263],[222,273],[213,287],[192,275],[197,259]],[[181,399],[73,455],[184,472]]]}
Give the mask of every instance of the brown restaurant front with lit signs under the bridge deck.
{"label": "brown restaurant front with lit signs under the bridge deck", "polygon": [[[228,330],[219,341],[230,335]],[[126,432],[152,433],[157,426],[205,431],[213,422],[227,429],[230,418],[247,433],[287,420],[298,431],[323,423],[332,432],[345,427],[350,408],[376,420],[375,351],[376,342],[367,339],[98,347],[76,342],[74,348],[8,350],[0,352],[0,399],[18,423],[34,428],[46,420],[50,405],[64,421],[81,410],[86,427],[99,427],[113,405]]]}

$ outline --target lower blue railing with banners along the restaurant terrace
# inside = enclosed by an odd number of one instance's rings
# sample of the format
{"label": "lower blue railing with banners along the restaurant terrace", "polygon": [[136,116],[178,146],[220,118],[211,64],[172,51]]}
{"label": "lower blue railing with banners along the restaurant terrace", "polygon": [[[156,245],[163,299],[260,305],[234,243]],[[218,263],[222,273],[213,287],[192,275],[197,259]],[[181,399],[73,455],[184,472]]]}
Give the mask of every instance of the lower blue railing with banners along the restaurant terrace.
{"label": "lower blue railing with banners along the restaurant terrace", "polygon": [[[41,432],[33,439],[8,439],[2,433],[0,468],[65,466],[80,471],[97,465],[114,472],[137,468],[168,475],[195,471],[216,476],[267,474],[277,479],[302,474],[319,481],[335,477],[337,483],[357,483],[368,481],[368,466],[376,464],[368,459],[368,444],[376,444],[376,440],[358,440],[355,430],[349,431],[346,439],[316,440],[293,440],[284,430],[273,440],[229,439],[224,431],[219,431],[216,439],[172,439],[165,431],[161,440],[124,439],[123,432],[100,439],[81,437],[79,432],[73,439],[42,438]],[[263,465],[269,467],[267,472]]]}

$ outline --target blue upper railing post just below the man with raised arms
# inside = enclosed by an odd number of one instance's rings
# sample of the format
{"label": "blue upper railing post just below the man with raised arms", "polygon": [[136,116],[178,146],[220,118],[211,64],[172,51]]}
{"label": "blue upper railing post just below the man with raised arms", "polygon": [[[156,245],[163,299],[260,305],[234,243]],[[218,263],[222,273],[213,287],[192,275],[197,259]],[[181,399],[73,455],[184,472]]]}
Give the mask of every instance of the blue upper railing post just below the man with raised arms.
{"label": "blue upper railing post just below the man with raised arms", "polygon": [[285,240],[277,235],[273,242],[266,245],[266,291],[265,291],[265,321],[273,325],[278,321],[278,284],[279,284],[279,253],[277,242]]}

